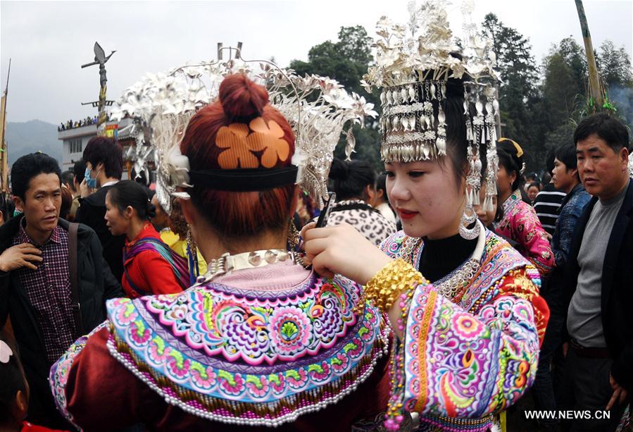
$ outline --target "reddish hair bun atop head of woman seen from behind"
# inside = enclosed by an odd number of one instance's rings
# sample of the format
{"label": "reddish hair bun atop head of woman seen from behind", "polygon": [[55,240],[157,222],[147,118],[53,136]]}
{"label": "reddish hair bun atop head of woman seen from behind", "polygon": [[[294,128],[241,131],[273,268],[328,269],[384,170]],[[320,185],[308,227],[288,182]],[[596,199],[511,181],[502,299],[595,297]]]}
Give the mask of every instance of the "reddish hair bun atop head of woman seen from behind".
{"label": "reddish hair bun atop head of woman seen from behind", "polygon": [[220,104],[228,118],[261,116],[268,104],[265,87],[244,74],[230,75],[220,84]]}

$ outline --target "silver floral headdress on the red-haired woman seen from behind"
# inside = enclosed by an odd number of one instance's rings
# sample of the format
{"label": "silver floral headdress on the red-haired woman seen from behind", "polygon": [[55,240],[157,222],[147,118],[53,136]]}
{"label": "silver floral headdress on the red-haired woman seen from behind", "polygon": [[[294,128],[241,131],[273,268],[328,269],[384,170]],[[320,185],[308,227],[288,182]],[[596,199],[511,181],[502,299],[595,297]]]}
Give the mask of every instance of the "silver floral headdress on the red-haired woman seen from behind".
{"label": "silver floral headdress on the red-haired woman seen from behind", "polygon": [[[236,51],[222,61],[222,50]],[[113,110],[114,118],[135,119],[137,146],[149,144],[156,153],[156,195],[165,211],[170,196],[187,198],[177,187],[189,184],[189,161],[180,154],[180,141],[189,119],[202,106],[218,98],[220,82],[233,73],[244,73],[268,90],[270,104],[282,113],[296,135],[292,163],[299,167],[297,183],[322,203],[327,197],[327,175],[334,148],[345,125],[346,155],[355,145],[351,126],[363,124],[365,116],[375,117],[373,104],[358,94],[349,94],[335,80],[318,75],[300,77],[270,61],[244,61],[238,49],[218,44],[218,61],[185,65],[166,74],[148,74],[125,90]]]}

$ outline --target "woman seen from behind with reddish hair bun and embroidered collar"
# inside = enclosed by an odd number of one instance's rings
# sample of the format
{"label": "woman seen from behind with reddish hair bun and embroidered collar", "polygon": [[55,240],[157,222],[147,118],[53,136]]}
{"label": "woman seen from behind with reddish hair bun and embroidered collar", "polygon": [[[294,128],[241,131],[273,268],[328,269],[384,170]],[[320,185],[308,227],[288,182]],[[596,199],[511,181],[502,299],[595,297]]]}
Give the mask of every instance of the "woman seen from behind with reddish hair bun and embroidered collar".
{"label": "woman seen from behind with reddish hair bun and embroidered collar", "polygon": [[69,421],[342,432],[380,414],[386,320],[374,307],[353,314],[360,285],[322,278],[287,249],[297,150],[287,118],[245,75],[196,111],[163,162],[187,173],[174,193],[208,271],[177,294],[108,302],[108,320],[51,369]]}

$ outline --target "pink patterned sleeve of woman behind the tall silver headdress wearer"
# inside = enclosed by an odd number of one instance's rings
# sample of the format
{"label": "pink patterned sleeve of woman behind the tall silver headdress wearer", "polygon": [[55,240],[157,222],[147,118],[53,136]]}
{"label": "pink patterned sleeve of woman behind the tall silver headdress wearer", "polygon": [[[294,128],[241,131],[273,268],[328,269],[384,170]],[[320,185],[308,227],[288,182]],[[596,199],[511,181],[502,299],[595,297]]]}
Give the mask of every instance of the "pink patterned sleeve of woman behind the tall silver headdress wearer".
{"label": "pink patterned sleeve of woman behind the tall silver headdress wearer", "polygon": [[551,272],[554,255],[545,230],[532,207],[525,204],[512,221],[512,238],[523,249],[525,257],[539,270],[541,276]]}

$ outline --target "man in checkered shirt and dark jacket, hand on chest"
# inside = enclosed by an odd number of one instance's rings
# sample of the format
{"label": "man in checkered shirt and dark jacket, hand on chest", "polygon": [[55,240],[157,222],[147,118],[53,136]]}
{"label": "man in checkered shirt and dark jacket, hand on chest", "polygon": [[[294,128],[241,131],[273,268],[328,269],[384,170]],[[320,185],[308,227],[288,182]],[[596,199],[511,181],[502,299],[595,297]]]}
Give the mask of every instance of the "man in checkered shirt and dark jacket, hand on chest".
{"label": "man in checkered shirt and dark jacket, hand on chest", "polygon": [[0,329],[7,317],[30,387],[29,419],[67,428],[56,411],[49,369],[78,335],[106,319],[105,301],[123,296],[94,231],[77,230],[77,281],[82,328],[71,304],[68,222],[59,218],[61,170],[55,159],[27,154],[13,163],[15,216],[0,226]]}

